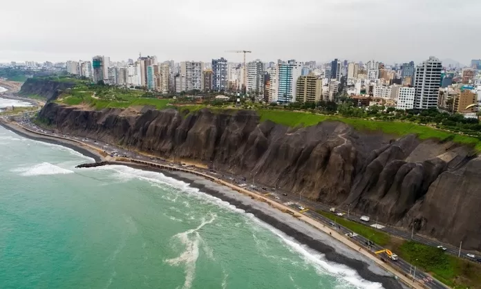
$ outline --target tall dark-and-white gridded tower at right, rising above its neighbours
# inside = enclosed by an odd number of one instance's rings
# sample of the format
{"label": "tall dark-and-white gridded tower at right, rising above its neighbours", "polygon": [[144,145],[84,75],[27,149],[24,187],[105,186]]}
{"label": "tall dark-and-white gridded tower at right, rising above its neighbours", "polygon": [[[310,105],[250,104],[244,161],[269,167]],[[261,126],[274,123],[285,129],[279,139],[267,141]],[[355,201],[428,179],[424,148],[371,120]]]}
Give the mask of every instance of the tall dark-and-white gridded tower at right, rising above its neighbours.
{"label": "tall dark-and-white gridded tower at right, rising above its neighbours", "polygon": [[442,63],[433,56],[416,66],[414,77],[414,108],[430,109],[437,106]]}

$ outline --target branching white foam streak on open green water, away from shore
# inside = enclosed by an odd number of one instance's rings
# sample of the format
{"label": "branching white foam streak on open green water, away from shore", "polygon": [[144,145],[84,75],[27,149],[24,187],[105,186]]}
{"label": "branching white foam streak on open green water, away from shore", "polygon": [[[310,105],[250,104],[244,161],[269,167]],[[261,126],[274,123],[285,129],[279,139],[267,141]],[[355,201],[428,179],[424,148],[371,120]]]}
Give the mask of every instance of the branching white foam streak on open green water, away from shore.
{"label": "branching white foam streak on open green water, away from shore", "polygon": [[[211,214],[209,221],[202,218],[202,223],[200,223],[195,229],[187,230],[173,236],[173,238],[178,238],[180,243],[185,245],[185,251],[182,252],[179,257],[166,259],[164,262],[173,266],[179,266],[182,263],[185,265],[185,281],[182,286],[183,289],[189,289],[192,286],[192,281],[194,281],[194,278],[196,277],[196,262],[199,257],[199,243],[205,243],[200,237],[198,230],[205,225],[214,222],[215,219],[216,214]],[[191,234],[194,236],[190,236]]]}

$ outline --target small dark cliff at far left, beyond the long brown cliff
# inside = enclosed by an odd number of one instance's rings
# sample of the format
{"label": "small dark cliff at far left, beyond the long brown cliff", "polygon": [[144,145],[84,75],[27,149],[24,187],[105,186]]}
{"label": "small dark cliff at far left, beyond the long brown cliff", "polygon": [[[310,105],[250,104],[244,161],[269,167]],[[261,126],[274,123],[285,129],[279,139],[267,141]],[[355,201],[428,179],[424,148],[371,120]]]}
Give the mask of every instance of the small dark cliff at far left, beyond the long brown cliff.
{"label": "small dark cliff at far left, beyond the long brown cliff", "polygon": [[19,94],[27,97],[28,95],[40,95],[41,97],[45,97],[47,101],[51,101],[56,100],[62,91],[73,86],[75,86],[75,83],[28,78],[21,86]]}

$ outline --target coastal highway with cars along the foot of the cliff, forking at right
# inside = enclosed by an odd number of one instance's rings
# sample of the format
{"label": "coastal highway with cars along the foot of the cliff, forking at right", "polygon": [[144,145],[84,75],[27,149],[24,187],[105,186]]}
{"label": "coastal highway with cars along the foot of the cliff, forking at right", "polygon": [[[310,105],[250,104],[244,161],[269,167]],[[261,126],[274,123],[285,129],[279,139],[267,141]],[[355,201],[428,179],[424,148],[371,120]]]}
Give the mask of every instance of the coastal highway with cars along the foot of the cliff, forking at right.
{"label": "coastal highway with cars along the foot of the cliff, forking at right", "polygon": [[[115,147],[113,145],[109,145],[109,144],[106,144],[104,142],[100,142],[100,141],[97,141],[97,140],[92,140],[92,139],[82,138],[82,137],[77,137],[77,136],[70,136],[67,133],[66,134],[53,133],[52,131],[47,131],[46,129],[42,129],[40,127],[37,127],[35,124],[32,124],[31,122],[29,122],[25,119],[20,121],[20,123],[24,127],[28,127],[28,129],[31,129],[32,131],[37,131],[39,133],[45,133],[45,134],[50,135],[50,136],[57,136],[57,137],[62,137],[62,138],[68,138],[70,140],[77,140],[77,141],[80,141],[80,142],[85,142],[86,144],[91,145],[92,147],[97,147],[97,149],[101,149],[103,151],[106,151],[106,153],[109,153],[109,154],[115,153],[115,155],[117,155],[117,156],[127,156],[129,158],[136,158],[138,160],[144,160],[144,161],[147,161],[147,162],[155,162],[155,163],[159,163],[159,164],[162,164],[162,165],[166,165],[166,164],[169,163],[167,160],[164,160],[162,158],[153,158],[153,157],[149,157],[149,156],[139,155],[139,154],[137,154],[135,152],[132,152],[132,151],[129,151],[127,149]],[[170,165],[177,166],[178,164],[173,164],[172,162],[170,162]],[[225,179],[229,183],[234,183],[236,185],[240,185],[241,187],[246,187],[246,188],[249,187],[249,189],[253,190],[254,192],[258,192],[260,194],[264,194],[265,196],[268,196],[269,198],[272,198],[273,201],[277,201],[279,203],[284,203],[285,205],[290,205],[290,207],[292,207],[293,209],[296,209],[297,212],[301,211],[299,209],[299,205],[302,205],[303,207],[306,207],[306,208],[309,208],[309,209],[305,210],[305,212],[301,212],[301,214],[305,214],[307,216],[310,216],[310,218],[313,218],[313,219],[315,219],[315,220],[317,220],[321,223],[324,223],[328,226],[331,226],[330,223],[332,223],[332,221],[330,219],[328,219],[325,216],[315,212],[315,210],[323,210],[323,211],[329,212],[330,207],[327,206],[327,205],[323,205],[319,202],[310,201],[306,198],[301,198],[299,195],[290,194],[289,192],[281,192],[279,189],[267,189],[265,187],[260,189],[260,188],[258,188],[254,185],[254,180],[252,180],[252,185],[247,184],[246,179],[242,178],[241,176],[234,176],[234,175],[229,175],[229,174],[220,174],[220,173],[217,173],[216,171],[214,171],[212,169],[201,169],[201,168],[198,168],[198,167],[196,167],[196,168],[190,167],[189,169],[195,169],[196,171],[202,171],[205,174],[214,174],[214,175],[216,175],[216,178]],[[346,213],[343,216],[339,216],[339,218],[347,218],[350,221],[356,221],[358,223],[361,223],[361,221],[359,221],[359,217],[353,216],[352,214],[350,214],[350,212],[346,212],[346,211],[343,211],[341,209],[336,209],[336,212]],[[367,222],[366,225],[372,225],[372,224],[374,224],[374,223],[372,223],[372,221],[370,221],[370,222]],[[335,226],[336,226],[335,230],[338,230],[342,234],[351,233],[351,231],[348,230],[346,227],[342,227],[339,224],[335,224]],[[334,227],[333,227],[333,229],[334,229]],[[393,236],[398,236],[402,239],[407,239],[407,240],[411,239],[411,233],[404,232],[402,230],[397,230],[397,229],[392,228],[392,227],[386,226],[386,227],[384,227],[380,230],[383,231],[383,232],[388,232],[389,234],[392,234]],[[346,238],[348,238],[348,236],[346,236]],[[364,248],[364,250],[370,250],[371,252],[376,252],[376,251],[384,249],[384,248],[381,248],[379,245],[376,245],[376,244],[373,244],[372,246],[368,247],[368,245],[367,245],[368,239],[364,238],[363,236],[357,235],[357,236],[354,236],[352,239],[353,239],[353,241],[355,241],[355,243],[359,243],[359,245],[362,248]],[[433,246],[440,245],[440,243],[438,243],[438,242],[431,241],[431,240],[422,238],[420,236],[414,236],[413,240],[418,241],[419,243],[424,243],[426,245],[433,245]],[[455,248],[453,248],[452,246],[449,246],[449,245],[444,245],[444,246],[446,248],[448,248],[446,250],[446,252],[448,252],[450,254],[455,254],[456,256],[458,256],[458,250],[456,250]],[[462,251],[462,254],[466,254],[466,252],[467,251]],[[395,253],[395,252],[393,252],[393,253]],[[440,254],[442,254],[442,252],[440,252]],[[386,260],[386,262],[390,263],[390,265],[392,265],[394,268],[398,268],[406,276],[409,276],[411,279],[415,279],[416,282],[423,283],[424,286],[426,286],[427,288],[434,288],[434,289],[444,289],[444,288],[446,288],[446,286],[444,286],[442,283],[440,283],[440,281],[437,281],[436,279],[433,279],[428,274],[419,270],[419,268],[416,268],[416,270],[415,270],[415,267],[413,265],[411,265],[410,263],[407,263],[406,261],[404,261],[400,258],[397,261],[392,261],[384,255],[384,259]]]}

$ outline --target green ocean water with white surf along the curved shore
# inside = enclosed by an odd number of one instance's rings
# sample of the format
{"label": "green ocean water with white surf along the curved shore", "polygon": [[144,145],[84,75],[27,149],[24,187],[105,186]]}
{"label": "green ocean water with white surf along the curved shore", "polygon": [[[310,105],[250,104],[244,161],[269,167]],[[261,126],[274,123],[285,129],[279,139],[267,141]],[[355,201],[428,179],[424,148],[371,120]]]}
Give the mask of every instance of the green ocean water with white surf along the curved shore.
{"label": "green ocean water with white surf along the curved shore", "polygon": [[0,127],[0,288],[381,288],[163,174]]}

